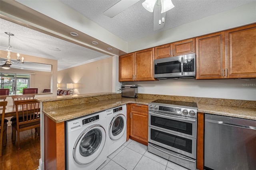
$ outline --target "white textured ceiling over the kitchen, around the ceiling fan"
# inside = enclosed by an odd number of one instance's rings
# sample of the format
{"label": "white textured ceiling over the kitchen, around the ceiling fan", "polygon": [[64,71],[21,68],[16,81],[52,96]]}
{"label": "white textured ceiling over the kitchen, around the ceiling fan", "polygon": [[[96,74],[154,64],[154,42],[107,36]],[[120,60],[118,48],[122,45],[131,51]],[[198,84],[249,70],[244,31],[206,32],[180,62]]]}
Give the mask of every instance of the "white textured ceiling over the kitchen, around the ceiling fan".
{"label": "white textured ceiling over the kitchen, around the ceiling fan", "polygon": [[113,18],[102,14],[120,0],[61,0],[83,16],[104,27],[126,42],[230,10],[254,0],[172,0],[174,8],[166,12],[164,28],[154,31],[153,13],[140,0]]}

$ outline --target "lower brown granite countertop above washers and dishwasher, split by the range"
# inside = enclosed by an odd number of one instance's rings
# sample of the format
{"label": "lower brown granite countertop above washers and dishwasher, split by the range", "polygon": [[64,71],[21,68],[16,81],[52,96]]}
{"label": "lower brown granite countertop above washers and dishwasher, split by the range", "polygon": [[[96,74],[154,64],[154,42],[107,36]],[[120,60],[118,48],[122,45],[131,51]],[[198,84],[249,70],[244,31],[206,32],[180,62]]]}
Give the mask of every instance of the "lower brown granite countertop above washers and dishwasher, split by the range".
{"label": "lower brown granite countertop above washers and dishwasher, split by the range", "polygon": [[[54,109],[42,110],[50,119],[55,123],[75,119],[91,113],[96,113],[113,107],[121,106],[128,103],[144,104],[154,101],[154,99],[146,98],[114,98],[108,100],[101,100],[97,102],[89,102],[85,104],[78,104],[73,106],[65,106]],[[233,106],[220,106],[210,104],[197,104],[198,112],[224,115],[230,117],[238,117],[244,119],[256,120],[256,109],[245,107],[233,107]]]}

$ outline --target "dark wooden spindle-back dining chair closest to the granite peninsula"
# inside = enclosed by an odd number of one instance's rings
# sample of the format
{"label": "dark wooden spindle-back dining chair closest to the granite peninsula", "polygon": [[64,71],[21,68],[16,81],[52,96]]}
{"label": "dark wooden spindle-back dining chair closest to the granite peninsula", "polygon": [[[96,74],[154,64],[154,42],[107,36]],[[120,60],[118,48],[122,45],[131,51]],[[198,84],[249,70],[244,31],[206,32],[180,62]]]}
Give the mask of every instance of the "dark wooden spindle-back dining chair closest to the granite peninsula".
{"label": "dark wooden spindle-back dining chair closest to the granite peninsula", "polygon": [[[18,121],[16,121],[16,123],[12,122],[12,131],[15,131],[15,141],[16,141],[16,131],[17,131],[18,150],[20,150],[20,132],[37,128],[38,136],[40,135],[40,117],[38,116],[38,114],[40,113],[40,108],[39,108],[39,102],[35,99],[18,100],[18,101],[14,101],[14,104],[16,107],[15,118],[17,119],[18,117]],[[22,113],[20,113],[20,115],[19,115],[18,107],[21,108]],[[12,135],[12,138],[13,137],[14,135]]]}

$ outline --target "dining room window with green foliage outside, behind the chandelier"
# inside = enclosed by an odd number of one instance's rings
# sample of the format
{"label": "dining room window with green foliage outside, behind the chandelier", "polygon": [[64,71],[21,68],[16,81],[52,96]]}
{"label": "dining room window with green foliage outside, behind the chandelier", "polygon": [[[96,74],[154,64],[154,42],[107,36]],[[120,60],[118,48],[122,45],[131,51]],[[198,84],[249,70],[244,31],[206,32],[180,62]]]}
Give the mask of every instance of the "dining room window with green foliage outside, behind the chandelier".
{"label": "dining room window with green foliage outside, behind the chandelier", "polygon": [[0,73],[1,88],[9,88],[9,95],[22,94],[23,88],[29,88],[30,74]]}

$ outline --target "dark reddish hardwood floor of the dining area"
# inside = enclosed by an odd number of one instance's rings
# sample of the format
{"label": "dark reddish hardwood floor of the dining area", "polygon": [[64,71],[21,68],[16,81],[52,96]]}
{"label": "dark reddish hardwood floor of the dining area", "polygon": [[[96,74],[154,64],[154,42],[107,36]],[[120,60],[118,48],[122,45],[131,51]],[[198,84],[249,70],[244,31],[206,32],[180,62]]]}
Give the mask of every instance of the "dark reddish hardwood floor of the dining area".
{"label": "dark reddish hardwood floor of the dining area", "polygon": [[[17,133],[17,132],[16,132]],[[40,159],[40,137],[35,129],[20,133],[20,150],[17,139],[12,143],[12,126],[7,127],[7,145],[2,148],[0,170],[36,170]]]}

